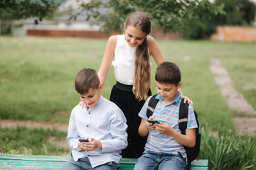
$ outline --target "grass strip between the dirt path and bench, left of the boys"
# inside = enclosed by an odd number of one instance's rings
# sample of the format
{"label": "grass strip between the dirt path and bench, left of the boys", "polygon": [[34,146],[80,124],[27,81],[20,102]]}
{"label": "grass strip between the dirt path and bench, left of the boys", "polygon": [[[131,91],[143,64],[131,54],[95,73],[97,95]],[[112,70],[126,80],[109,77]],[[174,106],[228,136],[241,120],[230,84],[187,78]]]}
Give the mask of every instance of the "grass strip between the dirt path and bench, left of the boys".
{"label": "grass strip between the dirt path and bench, left of the boys", "polygon": [[[0,144],[4,153],[60,155],[70,152],[67,148],[58,147],[58,142],[65,140],[66,132],[41,128],[31,130],[25,127],[0,128],[0,130]],[[51,138],[55,138],[57,142],[54,143]]]}

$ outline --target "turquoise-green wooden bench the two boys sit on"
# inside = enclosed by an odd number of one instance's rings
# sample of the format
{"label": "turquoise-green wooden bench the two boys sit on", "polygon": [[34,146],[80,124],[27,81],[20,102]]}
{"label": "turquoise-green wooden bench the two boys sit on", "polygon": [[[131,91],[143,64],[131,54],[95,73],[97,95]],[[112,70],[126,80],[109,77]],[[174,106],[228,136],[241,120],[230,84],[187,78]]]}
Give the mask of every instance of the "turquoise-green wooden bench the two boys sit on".
{"label": "turquoise-green wooden bench the two boys sit on", "polygon": [[[26,155],[26,154],[0,154],[0,169],[60,169],[69,157]],[[137,159],[123,158],[120,161],[120,170],[134,169]],[[191,170],[208,169],[208,160],[193,161]]]}

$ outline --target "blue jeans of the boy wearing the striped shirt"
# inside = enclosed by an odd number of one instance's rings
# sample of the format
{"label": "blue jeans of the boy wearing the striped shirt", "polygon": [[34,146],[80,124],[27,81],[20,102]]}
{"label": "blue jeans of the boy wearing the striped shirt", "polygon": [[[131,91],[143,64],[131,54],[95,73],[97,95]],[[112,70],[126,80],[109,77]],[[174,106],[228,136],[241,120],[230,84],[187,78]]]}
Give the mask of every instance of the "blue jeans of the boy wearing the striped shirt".
{"label": "blue jeans of the boy wearing the striped shirt", "polygon": [[186,159],[180,154],[144,152],[139,157],[134,170],[186,170]]}

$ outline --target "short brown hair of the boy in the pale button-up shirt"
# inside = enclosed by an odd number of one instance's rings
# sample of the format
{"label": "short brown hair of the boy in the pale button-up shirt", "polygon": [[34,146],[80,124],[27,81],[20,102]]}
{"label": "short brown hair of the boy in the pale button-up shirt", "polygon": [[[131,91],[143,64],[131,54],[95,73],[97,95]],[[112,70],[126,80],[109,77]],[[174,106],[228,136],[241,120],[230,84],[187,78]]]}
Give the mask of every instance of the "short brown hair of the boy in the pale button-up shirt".
{"label": "short brown hair of the boy in the pale button-up shirt", "polygon": [[75,90],[86,94],[90,89],[99,89],[100,79],[94,69],[82,69],[75,77]]}

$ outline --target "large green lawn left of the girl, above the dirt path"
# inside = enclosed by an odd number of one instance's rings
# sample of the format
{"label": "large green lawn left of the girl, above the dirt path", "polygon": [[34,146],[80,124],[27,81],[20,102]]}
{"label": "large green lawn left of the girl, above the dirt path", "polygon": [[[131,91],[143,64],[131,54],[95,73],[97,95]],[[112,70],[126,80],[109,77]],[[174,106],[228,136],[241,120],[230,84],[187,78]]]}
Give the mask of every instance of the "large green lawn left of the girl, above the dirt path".
{"label": "large green lawn left of the girl, above the dirt path", "polygon": [[97,40],[6,40],[0,47],[0,88],[5,91],[0,96],[4,99],[0,117],[68,122],[71,109],[79,101],[73,84],[75,74],[83,67],[99,67]]}

